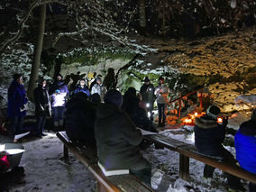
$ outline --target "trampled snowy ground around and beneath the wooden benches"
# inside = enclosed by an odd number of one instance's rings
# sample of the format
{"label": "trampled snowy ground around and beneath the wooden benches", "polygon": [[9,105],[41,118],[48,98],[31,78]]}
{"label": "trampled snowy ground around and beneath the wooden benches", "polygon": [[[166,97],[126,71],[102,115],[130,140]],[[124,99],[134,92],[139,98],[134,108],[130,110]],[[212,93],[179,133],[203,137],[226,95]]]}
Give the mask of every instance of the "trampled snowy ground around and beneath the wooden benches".
{"label": "trampled snowy ground around and beneath the wooden benches", "polygon": [[[191,127],[187,127],[189,132]],[[193,143],[193,134],[184,133],[184,129],[168,130],[161,134],[180,141]],[[63,145],[54,133],[40,140],[23,142],[25,152],[21,165],[25,169],[25,183],[11,188],[15,191],[95,191],[96,180],[70,156],[63,160]],[[228,150],[234,153],[232,147]],[[152,145],[142,151],[144,157],[152,164],[151,187],[158,192],[193,192],[193,191],[227,191],[227,181],[219,169],[215,170],[214,178],[206,180],[202,177],[204,164],[190,160],[190,179],[178,178],[178,153],[169,150],[156,150]],[[247,183],[244,182],[247,188]]]}

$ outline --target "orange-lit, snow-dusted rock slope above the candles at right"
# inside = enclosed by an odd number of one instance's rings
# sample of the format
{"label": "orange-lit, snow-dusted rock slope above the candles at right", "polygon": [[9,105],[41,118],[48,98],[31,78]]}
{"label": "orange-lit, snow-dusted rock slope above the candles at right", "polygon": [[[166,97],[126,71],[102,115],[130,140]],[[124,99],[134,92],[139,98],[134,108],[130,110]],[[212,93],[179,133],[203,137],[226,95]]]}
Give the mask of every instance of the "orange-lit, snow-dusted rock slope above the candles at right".
{"label": "orange-lit, snow-dusted rock slope above the candles at right", "polygon": [[[179,87],[187,90],[197,86],[208,87],[214,94],[214,103],[224,112],[248,109],[235,105],[234,99],[241,95],[256,94],[256,32],[233,32],[223,36],[197,41],[151,41],[158,53],[147,56],[151,69],[162,66],[163,75],[176,78]],[[154,62],[156,57],[158,61]],[[160,64],[160,60],[162,64]],[[143,70],[149,68],[143,66]],[[186,92],[186,91],[185,91]]]}

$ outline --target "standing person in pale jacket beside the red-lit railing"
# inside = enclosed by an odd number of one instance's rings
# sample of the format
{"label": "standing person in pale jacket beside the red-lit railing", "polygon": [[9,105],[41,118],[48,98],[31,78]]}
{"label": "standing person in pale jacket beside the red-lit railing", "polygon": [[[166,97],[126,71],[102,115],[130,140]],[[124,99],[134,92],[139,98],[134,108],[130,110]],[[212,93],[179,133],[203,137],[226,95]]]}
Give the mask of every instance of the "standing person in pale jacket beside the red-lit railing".
{"label": "standing person in pale jacket beside the red-lit railing", "polygon": [[168,103],[167,96],[169,95],[169,88],[164,85],[164,78],[159,78],[159,86],[156,87],[155,95],[157,96],[157,103],[159,109],[159,126],[164,127],[166,118],[166,105]]}

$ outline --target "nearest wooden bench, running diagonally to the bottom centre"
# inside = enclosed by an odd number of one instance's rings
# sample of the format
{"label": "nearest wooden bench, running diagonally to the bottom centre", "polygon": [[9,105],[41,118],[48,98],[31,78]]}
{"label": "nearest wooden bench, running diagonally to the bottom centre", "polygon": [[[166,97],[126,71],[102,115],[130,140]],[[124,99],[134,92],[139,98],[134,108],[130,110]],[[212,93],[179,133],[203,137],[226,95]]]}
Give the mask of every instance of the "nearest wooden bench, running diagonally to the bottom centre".
{"label": "nearest wooden bench, running diagonally to the bottom centre", "polygon": [[72,152],[97,180],[97,191],[110,192],[152,192],[151,187],[142,183],[131,174],[105,177],[97,165],[96,149],[85,144],[73,143],[66,132],[59,132],[57,136],[64,143],[64,158],[69,158]]}

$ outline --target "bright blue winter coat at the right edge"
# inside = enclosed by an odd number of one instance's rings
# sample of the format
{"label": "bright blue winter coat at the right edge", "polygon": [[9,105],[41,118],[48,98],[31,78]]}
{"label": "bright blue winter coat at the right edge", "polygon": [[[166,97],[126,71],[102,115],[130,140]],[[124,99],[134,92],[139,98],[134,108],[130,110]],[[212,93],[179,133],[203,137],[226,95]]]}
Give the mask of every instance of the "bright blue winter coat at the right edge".
{"label": "bright blue winter coat at the right edge", "polygon": [[241,124],[234,135],[236,160],[242,169],[256,174],[256,122],[248,121]]}

